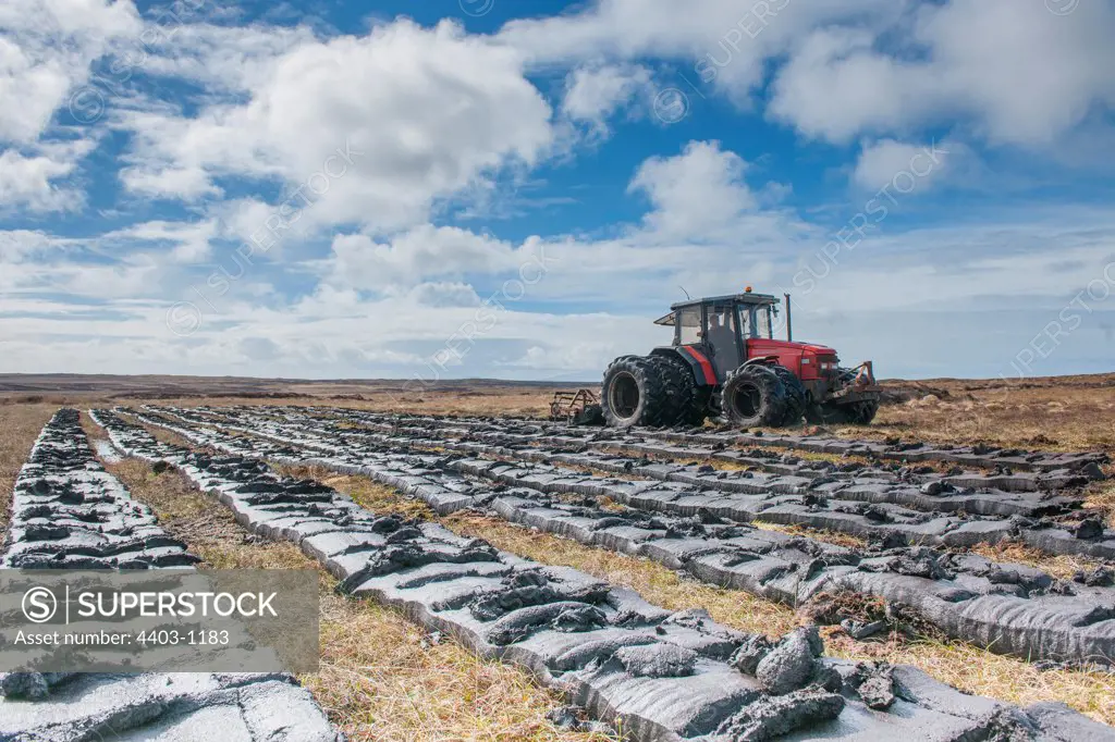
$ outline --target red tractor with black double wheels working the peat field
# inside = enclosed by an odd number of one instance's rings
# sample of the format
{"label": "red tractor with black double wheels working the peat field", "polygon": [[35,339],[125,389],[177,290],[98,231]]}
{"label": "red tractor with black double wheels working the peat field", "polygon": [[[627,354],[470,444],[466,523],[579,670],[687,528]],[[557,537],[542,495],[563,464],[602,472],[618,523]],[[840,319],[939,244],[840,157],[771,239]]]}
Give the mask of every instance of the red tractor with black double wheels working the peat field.
{"label": "red tractor with black double wheels working the peat field", "polygon": [[879,409],[871,362],[841,368],[836,351],[774,339],[779,300],[754,294],[679,302],[655,324],[673,344],[622,355],[608,367],[601,408],[609,426],[701,424],[707,417],[752,428],[811,422],[866,424]]}

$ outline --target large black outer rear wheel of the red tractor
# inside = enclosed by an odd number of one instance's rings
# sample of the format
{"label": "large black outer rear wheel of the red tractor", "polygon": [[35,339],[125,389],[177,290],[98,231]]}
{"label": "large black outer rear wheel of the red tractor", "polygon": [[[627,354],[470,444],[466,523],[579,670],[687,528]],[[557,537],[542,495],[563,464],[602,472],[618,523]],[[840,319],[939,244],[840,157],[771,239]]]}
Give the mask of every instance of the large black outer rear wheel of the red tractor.
{"label": "large black outer rear wheel of the red tractor", "polygon": [[641,355],[621,355],[604,372],[600,407],[613,428],[668,426],[677,417],[663,368]]}

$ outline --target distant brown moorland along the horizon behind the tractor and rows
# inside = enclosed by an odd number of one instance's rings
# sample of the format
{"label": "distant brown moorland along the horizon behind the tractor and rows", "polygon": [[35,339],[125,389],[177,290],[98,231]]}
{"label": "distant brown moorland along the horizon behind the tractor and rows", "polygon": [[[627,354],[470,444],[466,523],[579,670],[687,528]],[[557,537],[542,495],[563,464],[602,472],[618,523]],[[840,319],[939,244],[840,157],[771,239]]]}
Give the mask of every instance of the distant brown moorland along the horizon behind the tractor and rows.
{"label": "distant brown moorland along the horizon behind the tractor and rows", "polygon": [[[438,383],[392,380],[304,381],[235,377],[0,374],[0,404],[333,404],[437,414],[545,416],[553,392],[599,383],[465,379]],[[1049,450],[1115,452],[1115,373],[1029,379],[925,379],[882,382],[886,403],[849,437]]]}

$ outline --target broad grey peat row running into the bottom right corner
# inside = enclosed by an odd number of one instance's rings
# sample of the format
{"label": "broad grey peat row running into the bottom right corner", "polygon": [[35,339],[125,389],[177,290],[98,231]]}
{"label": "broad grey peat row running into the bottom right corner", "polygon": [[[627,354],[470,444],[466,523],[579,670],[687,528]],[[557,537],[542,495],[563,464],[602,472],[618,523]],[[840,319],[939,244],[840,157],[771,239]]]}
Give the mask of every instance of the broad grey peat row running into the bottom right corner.
{"label": "broad grey peat row running into the bottom right corner", "polygon": [[377,517],[320,485],[308,495],[307,482],[259,460],[198,455],[115,416],[97,419],[125,452],[175,462],[249,529],[298,543],[345,589],[530,668],[634,740],[1115,739],[1060,704],[1018,709],[911,667],[826,658],[815,628],[777,642],[741,634],[437,524]]}

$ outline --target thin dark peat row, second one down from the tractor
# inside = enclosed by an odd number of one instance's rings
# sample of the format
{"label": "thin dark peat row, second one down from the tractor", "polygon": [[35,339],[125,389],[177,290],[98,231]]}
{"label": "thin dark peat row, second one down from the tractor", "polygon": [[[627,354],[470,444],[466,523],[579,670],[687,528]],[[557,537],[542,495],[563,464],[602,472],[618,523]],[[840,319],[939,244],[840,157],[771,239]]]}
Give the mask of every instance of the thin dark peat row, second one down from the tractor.
{"label": "thin dark peat row, second one down from the tractor", "polygon": [[[217,413],[202,408],[205,413]],[[1048,471],[1014,471],[1007,467],[996,467],[993,473],[954,467],[948,472],[939,472],[931,467],[915,467],[908,461],[875,461],[863,463],[847,461],[841,465],[831,461],[801,459],[791,452],[779,453],[769,448],[753,447],[749,450],[729,448],[724,443],[701,445],[669,442],[617,429],[600,429],[570,426],[550,430],[517,420],[462,426],[454,419],[415,418],[334,408],[329,417],[346,422],[377,427],[392,426],[398,429],[416,428],[438,430],[442,435],[473,440],[486,440],[501,445],[541,445],[562,450],[593,449],[613,453],[656,456],[669,459],[710,459],[747,466],[777,475],[805,478],[869,478],[890,482],[915,484],[933,487],[934,482],[952,488],[980,490],[1002,490],[1009,492],[1051,491],[1075,488],[1092,481],[1092,477],[1077,470],[1063,468]],[[311,418],[312,419],[312,418]],[[318,418],[320,419],[320,418]]]}

